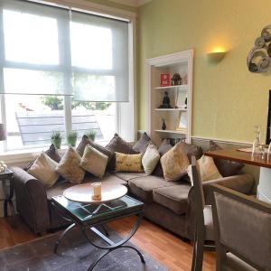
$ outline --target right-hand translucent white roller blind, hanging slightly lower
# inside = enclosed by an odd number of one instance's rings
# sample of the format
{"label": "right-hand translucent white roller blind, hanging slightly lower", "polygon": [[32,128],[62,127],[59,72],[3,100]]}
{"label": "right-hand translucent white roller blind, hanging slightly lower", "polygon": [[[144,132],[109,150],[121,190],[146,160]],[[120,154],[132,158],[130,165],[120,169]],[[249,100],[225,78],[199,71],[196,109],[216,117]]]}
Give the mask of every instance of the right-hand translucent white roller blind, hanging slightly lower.
{"label": "right-hand translucent white roller blind, hanging slightly lower", "polygon": [[129,100],[127,22],[72,12],[70,48],[76,100]]}

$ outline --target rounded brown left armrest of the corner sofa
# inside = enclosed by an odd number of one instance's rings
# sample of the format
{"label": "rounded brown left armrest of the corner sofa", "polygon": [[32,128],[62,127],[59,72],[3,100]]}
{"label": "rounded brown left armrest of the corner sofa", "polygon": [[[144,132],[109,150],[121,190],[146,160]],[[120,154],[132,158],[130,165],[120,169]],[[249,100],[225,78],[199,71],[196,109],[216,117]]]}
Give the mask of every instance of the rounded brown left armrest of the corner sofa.
{"label": "rounded brown left armrest of the corner sofa", "polygon": [[11,170],[14,172],[16,207],[23,220],[34,233],[50,229],[47,194],[42,182],[19,167]]}

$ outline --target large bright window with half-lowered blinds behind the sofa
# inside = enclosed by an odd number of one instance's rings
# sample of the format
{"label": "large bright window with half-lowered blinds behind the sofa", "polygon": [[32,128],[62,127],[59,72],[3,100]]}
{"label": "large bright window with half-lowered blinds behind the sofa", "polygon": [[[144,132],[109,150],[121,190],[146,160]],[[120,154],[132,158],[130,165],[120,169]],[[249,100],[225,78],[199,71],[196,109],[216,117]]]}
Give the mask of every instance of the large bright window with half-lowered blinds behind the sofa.
{"label": "large bright window with half-lowered blinds behind the sofa", "polygon": [[48,145],[53,130],[98,141],[126,130],[128,22],[17,0],[0,2],[0,20],[5,150]]}

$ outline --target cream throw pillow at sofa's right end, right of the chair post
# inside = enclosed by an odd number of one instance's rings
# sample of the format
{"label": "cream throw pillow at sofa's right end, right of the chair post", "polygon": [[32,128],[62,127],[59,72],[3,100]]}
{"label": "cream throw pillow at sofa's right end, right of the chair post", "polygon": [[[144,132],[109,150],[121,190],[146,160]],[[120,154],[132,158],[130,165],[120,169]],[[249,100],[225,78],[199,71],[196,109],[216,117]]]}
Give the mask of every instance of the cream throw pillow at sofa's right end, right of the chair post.
{"label": "cream throw pillow at sofa's right end, right of the chair post", "polygon": [[222,178],[218,168],[214,164],[212,157],[202,155],[201,159],[199,159],[197,163],[199,164],[202,182]]}

